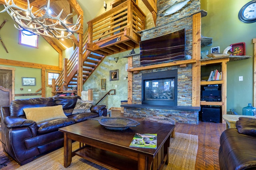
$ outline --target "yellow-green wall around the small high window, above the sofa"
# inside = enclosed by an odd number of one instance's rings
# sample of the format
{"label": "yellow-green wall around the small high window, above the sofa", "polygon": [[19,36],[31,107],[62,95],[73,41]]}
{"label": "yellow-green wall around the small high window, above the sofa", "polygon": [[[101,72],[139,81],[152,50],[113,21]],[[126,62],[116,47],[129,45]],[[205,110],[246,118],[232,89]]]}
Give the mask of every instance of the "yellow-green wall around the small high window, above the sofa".
{"label": "yellow-green wall around the small high window, above the sofa", "polygon": [[[0,11],[4,9],[4,6],[0,6]],[[14,27],[14,21],[8,15],[7,12],[0,13],[0,24],[7,19],[7,22],[0,29],[0,37],[2,38],[9,53],[6,53],[2,44],[0,44],[0,59],[8,59],[14,61],[23,61],[29,63],[46,64],[58,66],[59,55],[51,45],[48,44],[41,36],[39,36],[38,49],[32,47],[26,47],[18,44],[19,31]],[[1,65],[0,67],[15,68],[15,94],[28,94],[36,93],[36,90],[42,88],[41,85],[41,69],[26,68],[18,66]],[[36,86],[22,86],[22,77],[36,77]],[[21,91],[20,88],[24,90]],[[28,92],[31,89],[31,92]],[[47,97],[52,96],[51,88],[46,88]],[[38,92],[38,93],[41,93]],[[20,98],[38,98],[41,96],[22,96],[15,97]]]}

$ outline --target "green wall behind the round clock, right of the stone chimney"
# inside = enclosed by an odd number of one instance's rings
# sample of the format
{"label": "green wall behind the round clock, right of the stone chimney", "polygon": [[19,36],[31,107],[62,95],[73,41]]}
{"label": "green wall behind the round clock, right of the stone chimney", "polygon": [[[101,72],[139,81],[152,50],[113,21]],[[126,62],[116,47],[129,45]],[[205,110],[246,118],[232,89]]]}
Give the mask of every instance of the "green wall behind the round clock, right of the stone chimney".
{"label": "green wall behind the round clock, right of the stone chimney", "polygon": [[[201,9],[208,12],[202,18],[202,35],[212,37],[213,43],[201,50],[220,46],[220,53],[233,43],[246,43],[246,55],[254,55],[252,39],[256,38],[256,22],[242,23],[238,12],[250,0],[201,0]],[[253,58],[230,61],[227,64],[227,111],[234,109],[242,114],[242,108],[253,103]],[[243,76],[243,81],[238,81]]]}

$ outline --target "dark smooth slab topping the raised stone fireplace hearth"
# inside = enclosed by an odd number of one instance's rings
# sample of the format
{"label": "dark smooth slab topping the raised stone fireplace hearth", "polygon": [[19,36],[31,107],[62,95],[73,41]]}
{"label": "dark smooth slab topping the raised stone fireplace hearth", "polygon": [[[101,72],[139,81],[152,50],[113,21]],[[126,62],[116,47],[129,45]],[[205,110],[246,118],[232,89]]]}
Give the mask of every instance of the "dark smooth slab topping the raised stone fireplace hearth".
{"label": "dark smooth slab topping the raised stone fireplace hearth", "polygon": [[194,107],[194,106],[160,106],[160,105],[148,105],[148,104],[124,104],[124,105],[121,105],[121,107],[166,109],[166,110],[180,110],[180,111],[200,111],[201,110],[201,107]]}

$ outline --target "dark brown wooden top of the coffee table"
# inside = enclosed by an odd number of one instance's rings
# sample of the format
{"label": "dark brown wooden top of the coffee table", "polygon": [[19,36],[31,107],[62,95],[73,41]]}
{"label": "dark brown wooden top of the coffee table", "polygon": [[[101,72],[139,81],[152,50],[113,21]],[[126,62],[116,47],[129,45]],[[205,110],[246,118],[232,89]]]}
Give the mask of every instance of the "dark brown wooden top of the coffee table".
{"label": "dark brown wooden top of the coffee table", "polygon": [[[67,133],[67,135],[77,135],[78,138],[81,139],[82,137],[85,141],[88,139],[90,141],[101,142],[109,146],[133,150],[133,152],[148,154],[154,157],[162,145],[164,145],[164,142],[170,138],[175,125],[146,121],[139,122],[140,125],[136,127],[129,127],[124,131],[115,131],[106,129],[96,120],[86,120],[74,125],[62,127],[59,131]],[[157,149],[129,147],[135,133],[156,133]]]}

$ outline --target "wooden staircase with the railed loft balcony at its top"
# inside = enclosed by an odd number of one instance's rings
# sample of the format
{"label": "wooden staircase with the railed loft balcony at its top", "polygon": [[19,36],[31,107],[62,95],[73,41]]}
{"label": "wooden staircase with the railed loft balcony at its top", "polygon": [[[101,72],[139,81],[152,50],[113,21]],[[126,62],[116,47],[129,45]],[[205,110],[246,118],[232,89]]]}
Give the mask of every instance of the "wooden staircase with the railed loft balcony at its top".
{"label": "wooden staircase with the railed loft balcony at its top", "polygon": [[[88,22],[88,30],[82,38],[83,84],[105,56],[139,47],[138,32],[145,29],[145,14],[134,0],[118,0],[112,7],[111,10]],[[78,50],[76,47],[70,59],[64,59],[60,76],[52,80],[52,94],[56,93],[56,86],[63,91],[64,85],[78,85]]]}

